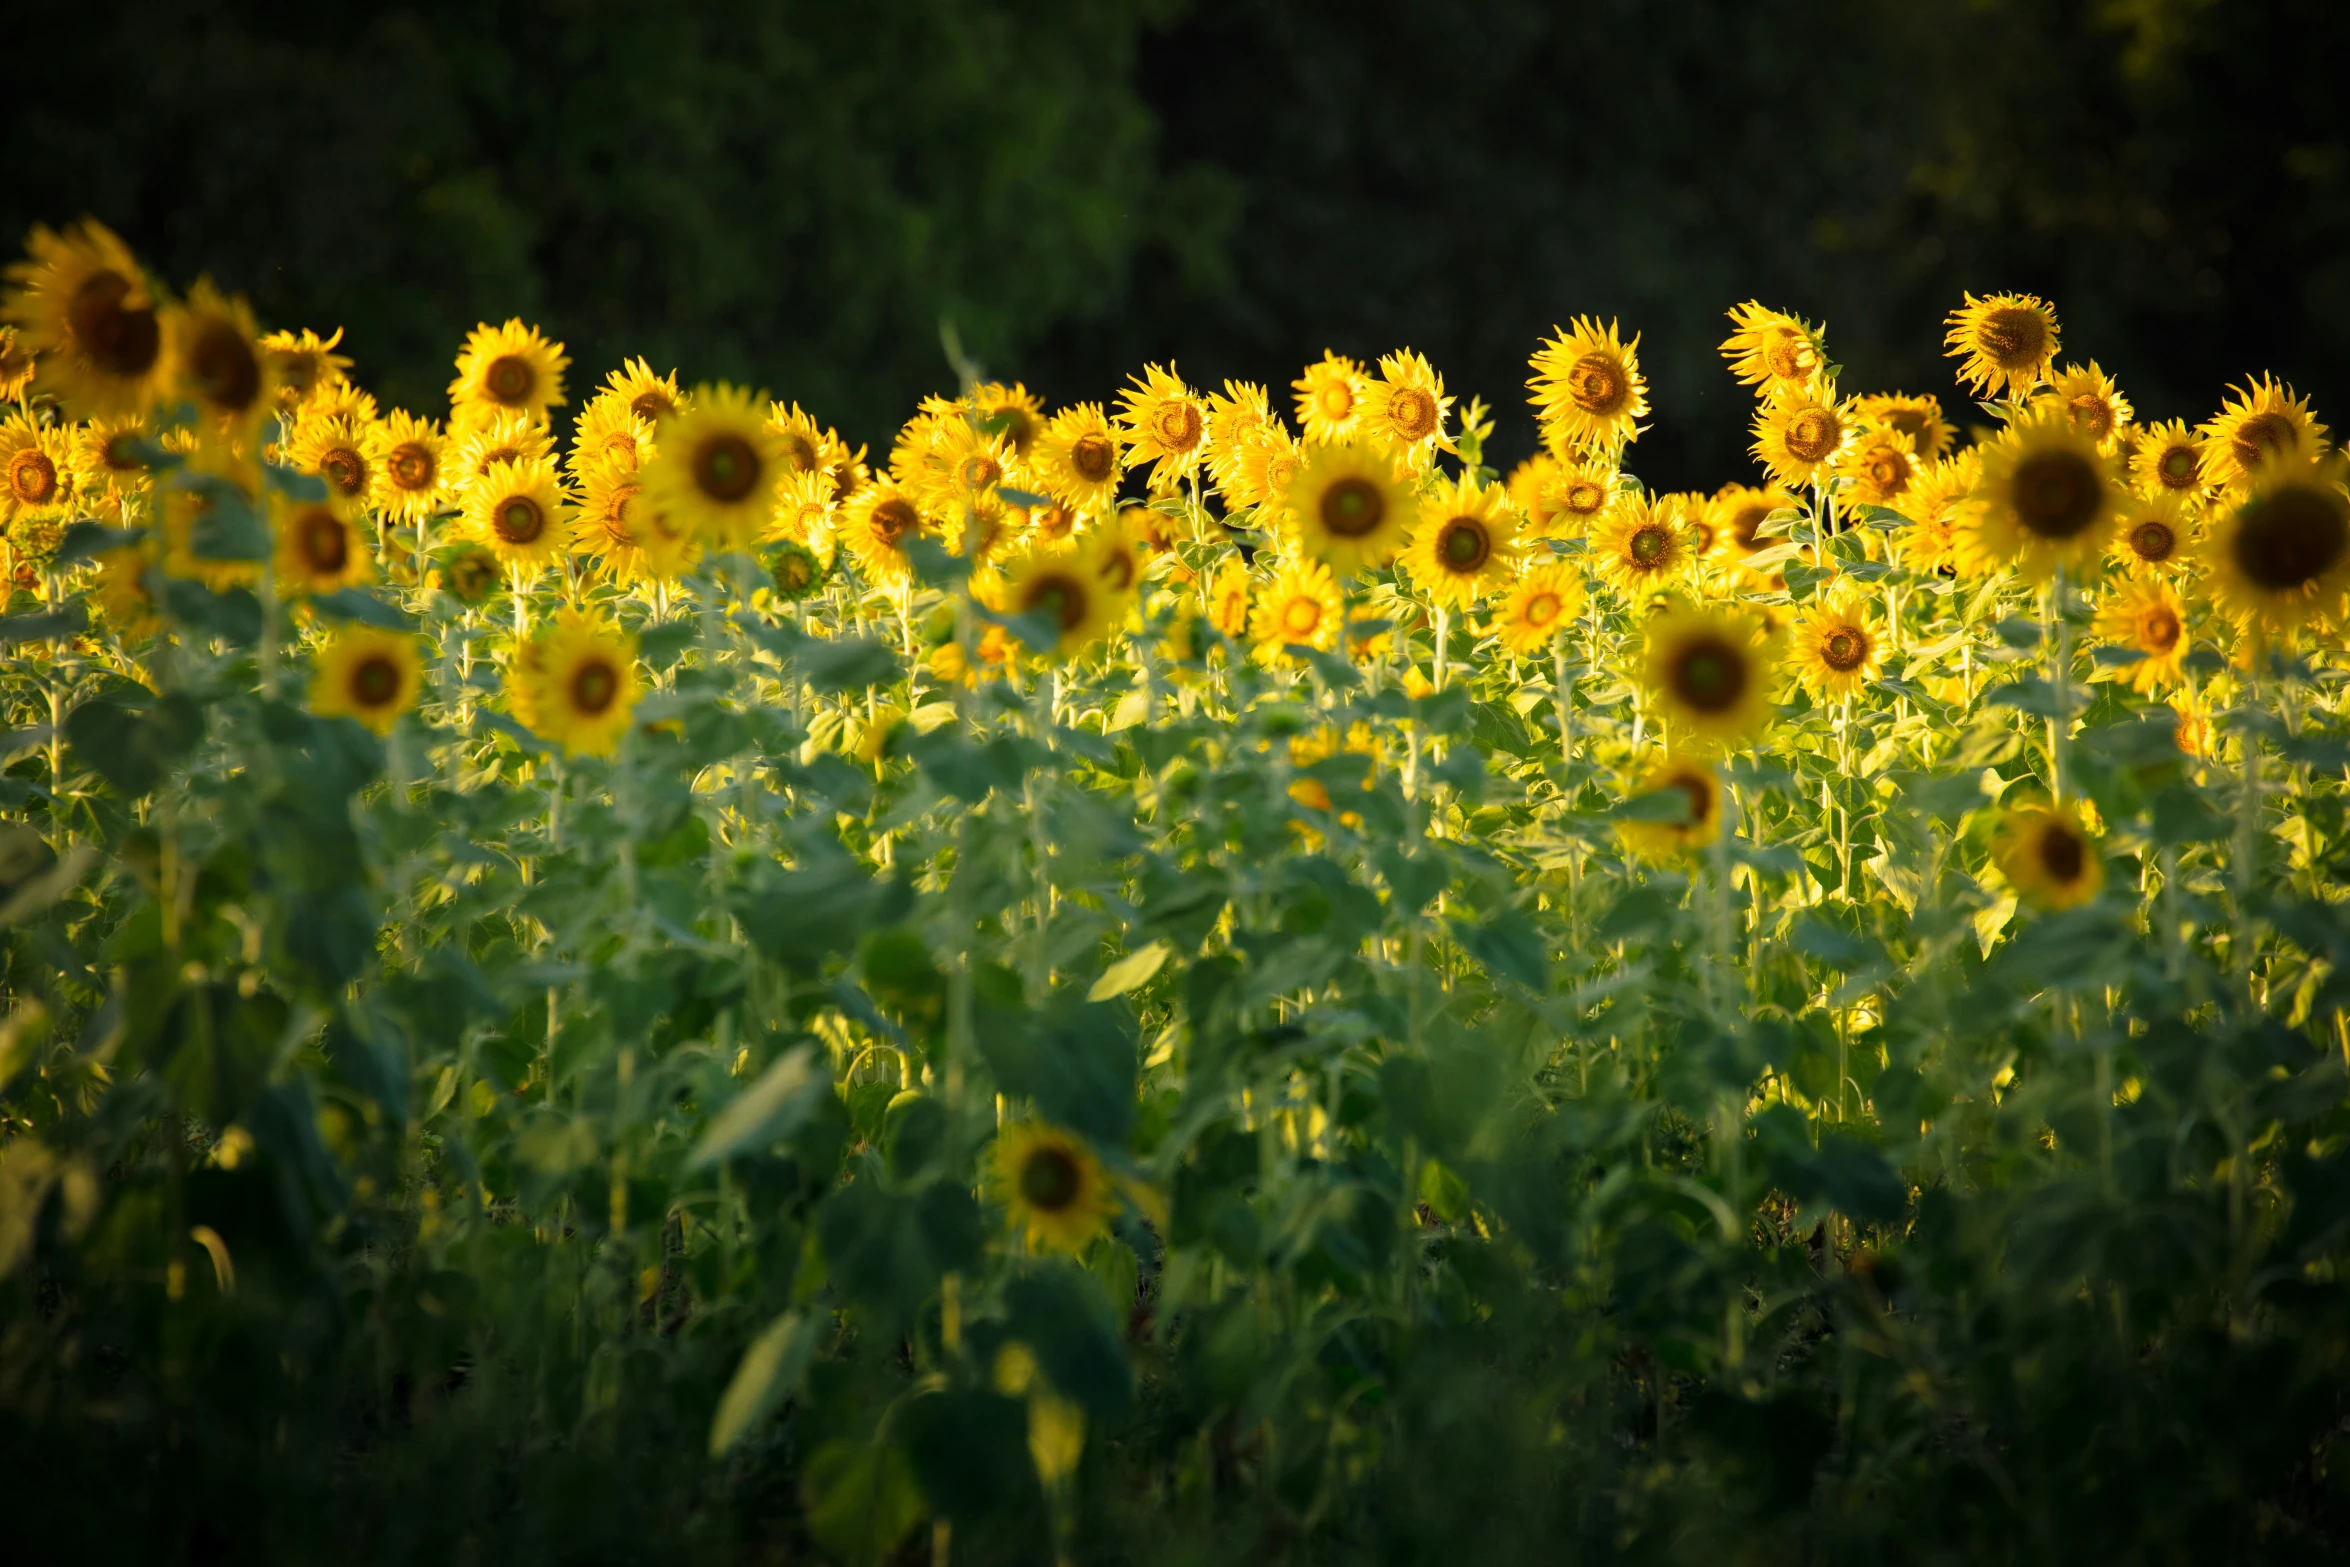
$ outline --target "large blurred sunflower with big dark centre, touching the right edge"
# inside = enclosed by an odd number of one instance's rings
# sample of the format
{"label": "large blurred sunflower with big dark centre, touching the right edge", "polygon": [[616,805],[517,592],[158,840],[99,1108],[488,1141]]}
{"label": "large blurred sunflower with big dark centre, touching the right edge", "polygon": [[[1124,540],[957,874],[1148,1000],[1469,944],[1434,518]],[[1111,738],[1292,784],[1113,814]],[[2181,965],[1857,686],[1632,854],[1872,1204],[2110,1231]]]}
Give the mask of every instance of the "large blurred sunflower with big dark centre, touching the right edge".
{"label": "large blurred sunflower with big dark centre, touching the right edge", "polygon": [[2350,587],[2350,498],[2341,458],[2301,449],[2261,465],[2251,493],[2202,538],[2211,597],[2237,625],[2289,632],[2341,611]]}

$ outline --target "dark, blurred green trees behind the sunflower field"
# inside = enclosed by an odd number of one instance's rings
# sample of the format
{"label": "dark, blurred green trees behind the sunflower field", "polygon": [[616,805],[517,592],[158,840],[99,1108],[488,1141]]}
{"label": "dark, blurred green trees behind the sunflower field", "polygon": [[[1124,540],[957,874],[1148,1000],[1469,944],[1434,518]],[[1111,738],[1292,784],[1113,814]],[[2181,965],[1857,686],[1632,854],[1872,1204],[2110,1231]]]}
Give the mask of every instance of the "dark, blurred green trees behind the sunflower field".
{"label": "dark, blurred green trees behind the sunflower field", "polygon": [[1144,357],[1429,352],[1532,444],[1537,334],[1643,334],[1659,486],[1744,477],[1746,296],[1955,397],[1962,289],[2056,301],[2143,418],[2350,374],[2338,0],[42,0],[0,228],[92,211],[437,409],[477,320],[886,444],[938,322],[1048,399]]}

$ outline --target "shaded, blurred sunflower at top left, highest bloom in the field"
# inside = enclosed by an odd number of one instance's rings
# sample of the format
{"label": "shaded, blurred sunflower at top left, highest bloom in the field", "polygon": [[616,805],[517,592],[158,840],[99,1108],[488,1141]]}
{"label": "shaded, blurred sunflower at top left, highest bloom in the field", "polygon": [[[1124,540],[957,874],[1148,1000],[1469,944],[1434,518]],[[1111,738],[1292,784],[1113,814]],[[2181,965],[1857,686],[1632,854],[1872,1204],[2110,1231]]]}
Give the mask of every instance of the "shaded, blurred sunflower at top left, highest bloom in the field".
{"label": "shaded, blurred sunflower at top left, highest bloom in the field", "polygon": [[164,392],[172,359],[146,273],[103,223],[66,233],[35,226],[31,256],[7,275],[0,315],[35,355],[33,390],[56,397],[68,418],[143,413]]}

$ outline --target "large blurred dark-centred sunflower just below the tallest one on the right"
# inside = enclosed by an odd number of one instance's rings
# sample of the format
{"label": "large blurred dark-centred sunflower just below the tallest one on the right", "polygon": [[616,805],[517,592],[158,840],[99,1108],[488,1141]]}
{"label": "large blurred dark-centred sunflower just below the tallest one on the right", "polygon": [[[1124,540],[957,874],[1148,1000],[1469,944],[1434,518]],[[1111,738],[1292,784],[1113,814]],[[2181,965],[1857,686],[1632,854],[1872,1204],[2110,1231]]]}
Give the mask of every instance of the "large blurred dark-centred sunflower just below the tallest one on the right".
{"label": "large blurred dark-centred sunflower just below the tallest one on the right", "polygon": [[2113,540],[2110,463],[2063,413],[2026,413],[1983,449],[1983,472],[1967,503],[1962,566],[2014,566],[2033,583],[2080,569]]}

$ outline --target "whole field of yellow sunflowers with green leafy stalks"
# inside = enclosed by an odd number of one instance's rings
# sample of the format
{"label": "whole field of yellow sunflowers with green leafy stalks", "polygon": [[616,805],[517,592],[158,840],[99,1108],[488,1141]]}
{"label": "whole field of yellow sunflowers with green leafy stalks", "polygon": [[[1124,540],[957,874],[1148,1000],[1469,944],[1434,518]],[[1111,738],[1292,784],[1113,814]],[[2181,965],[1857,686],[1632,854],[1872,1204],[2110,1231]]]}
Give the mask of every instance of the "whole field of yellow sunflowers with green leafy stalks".
{"label": "whole field of yellow sunflowers with green leafy stalks", "polygon": [[[886,453],[0,296],[24,1562],[2338,1560],[2350,491],[1730,312]],[[949,355],[954,345],[949,341]]]}

